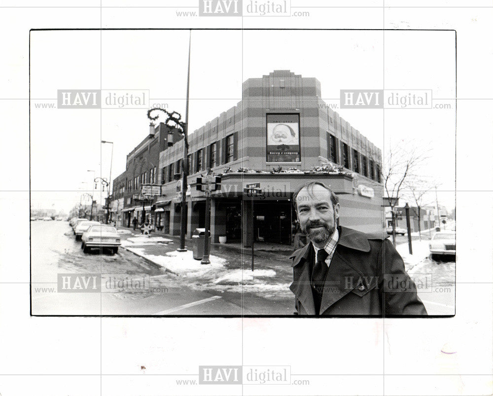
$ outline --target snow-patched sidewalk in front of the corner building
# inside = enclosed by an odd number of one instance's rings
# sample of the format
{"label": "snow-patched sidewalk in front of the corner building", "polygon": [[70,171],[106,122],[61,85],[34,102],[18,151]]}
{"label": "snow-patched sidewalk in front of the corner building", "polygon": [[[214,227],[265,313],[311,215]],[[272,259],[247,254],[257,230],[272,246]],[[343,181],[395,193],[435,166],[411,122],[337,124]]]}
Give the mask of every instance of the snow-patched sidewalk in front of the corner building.
{"label": "snow-patched sidewalk in front of the corner building", "polygon": [[[123,232],[122,232],[123,230]],[[149,237],[133,229],[119,228],[122,248],[179,277],[180,282],[196,289],[217,289],[261,293],[272,298],[291,296],[292,282],[289,253],[255,249],[254,270],[251,270],[251,250],[229,244],[212,244],[210,264],[193,258],[191,240],[187,251],[177,252],[179,237],[152,233]]]}

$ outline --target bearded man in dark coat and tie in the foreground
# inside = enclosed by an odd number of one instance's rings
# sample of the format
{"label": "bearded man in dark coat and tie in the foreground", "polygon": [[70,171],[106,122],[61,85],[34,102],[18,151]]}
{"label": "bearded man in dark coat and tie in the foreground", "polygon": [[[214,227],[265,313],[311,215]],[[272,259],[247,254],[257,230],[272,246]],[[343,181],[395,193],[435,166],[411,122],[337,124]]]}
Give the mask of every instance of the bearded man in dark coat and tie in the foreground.
{"label": "bearded man in dark coat and tie in the foreground", "polygon": [[391,242],[339,226],[339,199],[310,181],[293,203],[308,244],[290,257],[297,315],[427,315]]}

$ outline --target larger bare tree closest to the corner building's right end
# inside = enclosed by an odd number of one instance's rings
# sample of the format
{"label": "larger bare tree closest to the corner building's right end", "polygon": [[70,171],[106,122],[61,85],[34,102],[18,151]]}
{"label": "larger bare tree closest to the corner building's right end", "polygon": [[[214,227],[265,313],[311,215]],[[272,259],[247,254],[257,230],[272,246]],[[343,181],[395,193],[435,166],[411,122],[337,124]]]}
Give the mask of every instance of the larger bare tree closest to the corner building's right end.
{"label": "larger bare tree closest to the corner building's right end", "polygon": [[385,156],[384,189],[392,214],[392,243],[395,245],[395,207],[405,189],[406,182],[419,177],[420,167],[429,158],[429,150],[423,150],[413,142],[400,142],[391,146]]}

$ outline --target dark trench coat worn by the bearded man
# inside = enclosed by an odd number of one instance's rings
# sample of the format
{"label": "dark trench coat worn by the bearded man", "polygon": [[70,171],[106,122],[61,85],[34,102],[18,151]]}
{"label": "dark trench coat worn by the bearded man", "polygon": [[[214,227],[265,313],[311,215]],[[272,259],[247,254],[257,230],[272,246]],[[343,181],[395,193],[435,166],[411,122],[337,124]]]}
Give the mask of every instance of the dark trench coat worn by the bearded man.
{"label": "dark trench coat worn by the bearded man", "polygon": [[[320,315],[427,315],[404,261],[382,235],[338,227],[339,241],[329,265]],[[316,315],[310,286],[312,243],[290,257],[297,315]]]}

